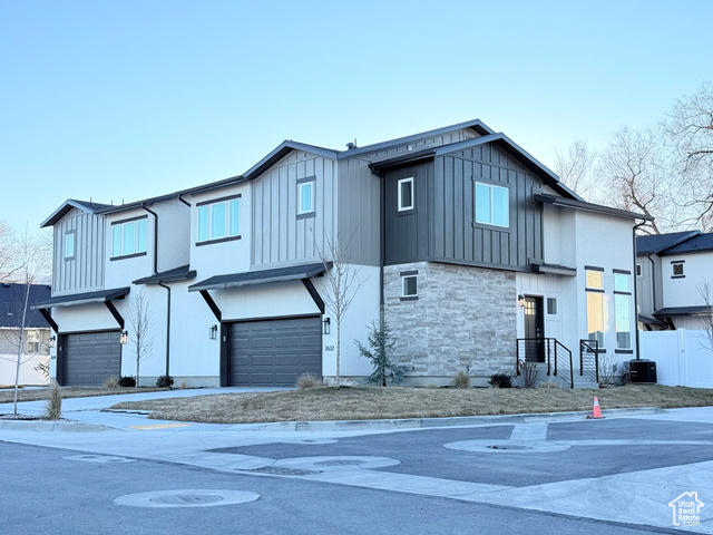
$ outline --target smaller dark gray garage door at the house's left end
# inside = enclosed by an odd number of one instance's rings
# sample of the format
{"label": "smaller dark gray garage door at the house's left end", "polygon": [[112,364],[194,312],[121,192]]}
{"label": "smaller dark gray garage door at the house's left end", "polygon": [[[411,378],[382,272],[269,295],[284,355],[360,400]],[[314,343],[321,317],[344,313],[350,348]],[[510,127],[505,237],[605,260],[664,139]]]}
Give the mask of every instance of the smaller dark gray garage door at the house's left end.
{"label": "smaller dark gray garage door at the house's left end", "polygon": [[100,386],[109,376],[119,377],[119,331],[67,334],[64,385]]}

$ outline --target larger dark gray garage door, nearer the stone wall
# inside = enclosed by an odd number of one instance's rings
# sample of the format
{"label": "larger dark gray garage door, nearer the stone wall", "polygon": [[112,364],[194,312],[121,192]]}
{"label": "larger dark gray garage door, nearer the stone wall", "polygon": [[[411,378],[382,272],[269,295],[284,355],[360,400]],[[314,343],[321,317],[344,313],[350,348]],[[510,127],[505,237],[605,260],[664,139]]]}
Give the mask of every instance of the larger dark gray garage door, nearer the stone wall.
{"label": "larger dark gray garage door, nearer the stone wall", "polygon": [[321,377],[321,349],[319,317],[233,323],[228,383],[293,387],[302,373]]}

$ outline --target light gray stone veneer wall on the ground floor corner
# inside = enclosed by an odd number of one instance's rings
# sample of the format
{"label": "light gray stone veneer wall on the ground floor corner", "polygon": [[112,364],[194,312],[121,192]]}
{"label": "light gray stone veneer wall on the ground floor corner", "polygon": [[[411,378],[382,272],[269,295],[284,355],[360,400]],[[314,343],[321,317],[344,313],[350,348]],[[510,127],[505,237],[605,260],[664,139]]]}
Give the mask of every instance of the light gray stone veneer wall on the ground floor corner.
{"label": "light gray stone veneer wall on the ground floor corner", "polygon": [[[418,271],[413,301],[401,300],[408,271]],[[384,318],[408,382],[443,383],[459,370],[478,378],[512,374],[516,314],[512,272],[434,262],[384,268]]]}

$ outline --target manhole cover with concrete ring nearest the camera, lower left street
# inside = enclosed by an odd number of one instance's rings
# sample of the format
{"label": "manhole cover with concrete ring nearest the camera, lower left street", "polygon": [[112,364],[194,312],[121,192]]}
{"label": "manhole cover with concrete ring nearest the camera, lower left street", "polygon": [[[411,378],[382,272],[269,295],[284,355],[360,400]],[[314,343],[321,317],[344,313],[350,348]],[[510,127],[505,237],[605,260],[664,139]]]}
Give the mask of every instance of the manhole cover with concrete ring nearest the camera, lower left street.
{"label": "manhole cover with concrete ring nearest the camera, lower left street", "polygon": [[114,500],[116,505],[129,507],[213,507],[255,502],[260,494],[244,490],[155,490],[127,494]]}

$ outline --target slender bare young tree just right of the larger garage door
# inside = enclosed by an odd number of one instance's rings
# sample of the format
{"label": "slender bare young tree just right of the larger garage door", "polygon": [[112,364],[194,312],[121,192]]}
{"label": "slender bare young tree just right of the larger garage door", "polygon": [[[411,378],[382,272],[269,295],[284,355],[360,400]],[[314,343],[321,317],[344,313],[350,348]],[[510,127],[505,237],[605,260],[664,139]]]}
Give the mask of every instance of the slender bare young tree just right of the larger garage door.
{"label": "slender bare young tree just right of the larger garage door", "polygon": [[340,359],[341,359],[341,331],[342,320],[349,310],[354,296],[364,281],[359,279],[359,269],[349,262],[349,247],[341,247],[339,235],[336,241],[325,237],[326,250],[319,251],[320,260],[324,264],[324,278],[329,286],[324,295],[326,311],[334,318],[336,325],[336,386],[341,386]]}

